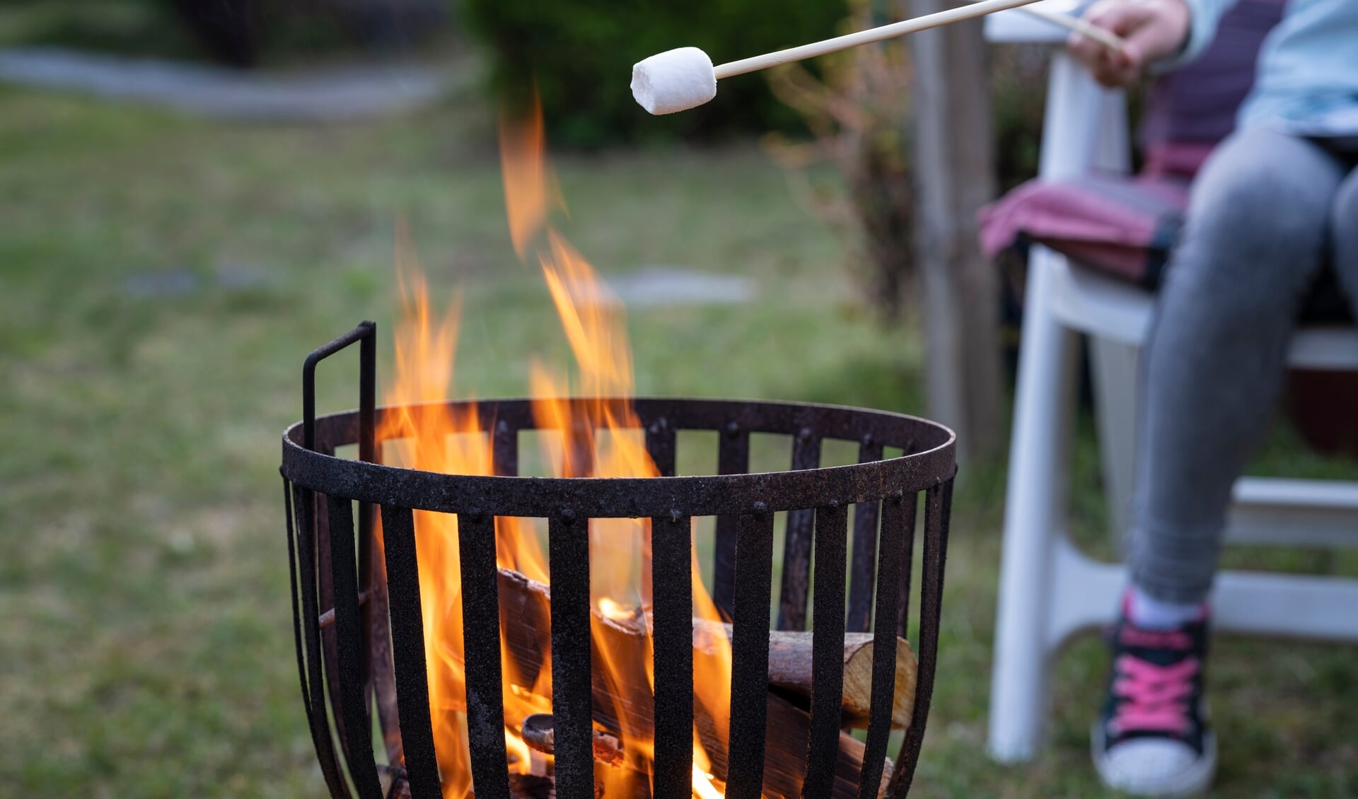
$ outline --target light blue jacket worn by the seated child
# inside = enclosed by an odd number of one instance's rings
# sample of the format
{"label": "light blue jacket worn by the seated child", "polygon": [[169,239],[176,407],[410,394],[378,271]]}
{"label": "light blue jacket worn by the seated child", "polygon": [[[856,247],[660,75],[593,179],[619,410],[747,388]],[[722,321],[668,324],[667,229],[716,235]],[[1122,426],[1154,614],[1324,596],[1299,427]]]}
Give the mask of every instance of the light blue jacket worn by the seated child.
{"label": "light blue jacket worn by the seated child", "polygon": [[[1176,61],[1202,53],[1237,0],[1184,3],[1192,23]],[[1358,134],[1358,0],[1289,0],[1282,22],[1264,41],[1258,69],[1253,91],[1240,107],[1240,128]]]}

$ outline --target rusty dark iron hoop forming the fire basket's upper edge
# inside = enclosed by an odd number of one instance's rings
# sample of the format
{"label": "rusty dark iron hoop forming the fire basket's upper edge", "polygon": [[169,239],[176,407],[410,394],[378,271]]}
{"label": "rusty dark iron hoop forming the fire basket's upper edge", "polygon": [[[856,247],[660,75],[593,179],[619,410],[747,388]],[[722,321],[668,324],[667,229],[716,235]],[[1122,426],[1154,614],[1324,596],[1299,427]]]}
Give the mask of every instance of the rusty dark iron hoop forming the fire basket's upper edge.
{"label": "rusty dark iron hoop forming the fire basket's upper edge", "polygon": [[[622,400],[618,400],[622,402]],[[513,416],[520,430],[534,429],[528,400],[447,403],[475,407],[492,429],[496,416]],[[676,430],[720,430],[732,418],[755,433],[784,433],[811,426],[822,438],[860,441],[873,433],[885,446],[907,454],[845,467],[680,478],[517,478],[445,475],[345,460],[307,450],[303,425],[282,440],[282,473],[291,482],[372,503],[395,503],[439,513],[494,513],[549,518],[569,507],[589,518],[720,515],[751,513],[755,501],[770,510],[808,510],[880,499],[898,490],[918,492],[953,471],[953,435],[941,425],[903,414],[837,406],[771,402],[637,399],[644,425],[665,418]],[[379,408],[379,423],[397,408]],[[779,423],[781,422],[781,423]],[[316,419],[318,442],[330,448],[357,442],[353,411]]]}

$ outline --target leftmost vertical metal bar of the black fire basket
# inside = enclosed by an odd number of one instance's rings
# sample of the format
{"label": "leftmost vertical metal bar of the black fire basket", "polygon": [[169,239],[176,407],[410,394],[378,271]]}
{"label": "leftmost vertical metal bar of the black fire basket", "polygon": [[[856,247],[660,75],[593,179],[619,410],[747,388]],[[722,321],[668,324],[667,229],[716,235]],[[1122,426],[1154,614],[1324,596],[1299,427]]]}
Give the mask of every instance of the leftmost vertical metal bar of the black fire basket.
{"label": "leftmost vertical metal bar of the black fire basket", "polygon": [[301,619],[307,643],[307,674],[311,682],[311,741],[320,760],[320,773],[331,796],[349,796],[349,784],[340,769],[334,739],[326,715],[326,682],[320,657],[320,608],[316,598],[316,495],[310,488],[292,487],[297,515],[297,575],[301,579]]}

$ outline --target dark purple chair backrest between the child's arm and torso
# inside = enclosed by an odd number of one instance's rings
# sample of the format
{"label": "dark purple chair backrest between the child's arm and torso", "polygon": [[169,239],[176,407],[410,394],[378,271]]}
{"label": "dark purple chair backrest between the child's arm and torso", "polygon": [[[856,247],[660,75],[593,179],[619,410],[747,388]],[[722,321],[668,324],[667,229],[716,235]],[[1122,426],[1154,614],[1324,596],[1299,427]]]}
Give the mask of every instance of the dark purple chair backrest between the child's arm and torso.
{"label": "dark purple chair backrest between the child's arm and torso", "polygon": [[1285,0],[1241,0],[1221,19],[1217,38],[1192,62],[1157,80],[1146,98],[1138,142],[1150,172],[1191,176],[1236,126],[1255,83],[1264,37]]}

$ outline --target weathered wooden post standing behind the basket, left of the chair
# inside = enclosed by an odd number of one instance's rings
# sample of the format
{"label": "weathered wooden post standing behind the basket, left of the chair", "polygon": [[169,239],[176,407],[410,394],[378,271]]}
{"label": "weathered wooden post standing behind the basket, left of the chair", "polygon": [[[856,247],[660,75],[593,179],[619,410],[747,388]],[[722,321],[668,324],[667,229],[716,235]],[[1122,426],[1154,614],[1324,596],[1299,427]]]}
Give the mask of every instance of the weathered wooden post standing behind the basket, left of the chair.
{"label": "weathered wooden post standing behind the basket, left of the chair", "polygon": [[[909,0],[902,11],[964,3]],[[976,244],[976,209],[995,194],[982,20],[921,31],[910,47],[929,415],[956,430],[959,459],[983,457],[1002,445],[1004,383],[998,277]]]}

